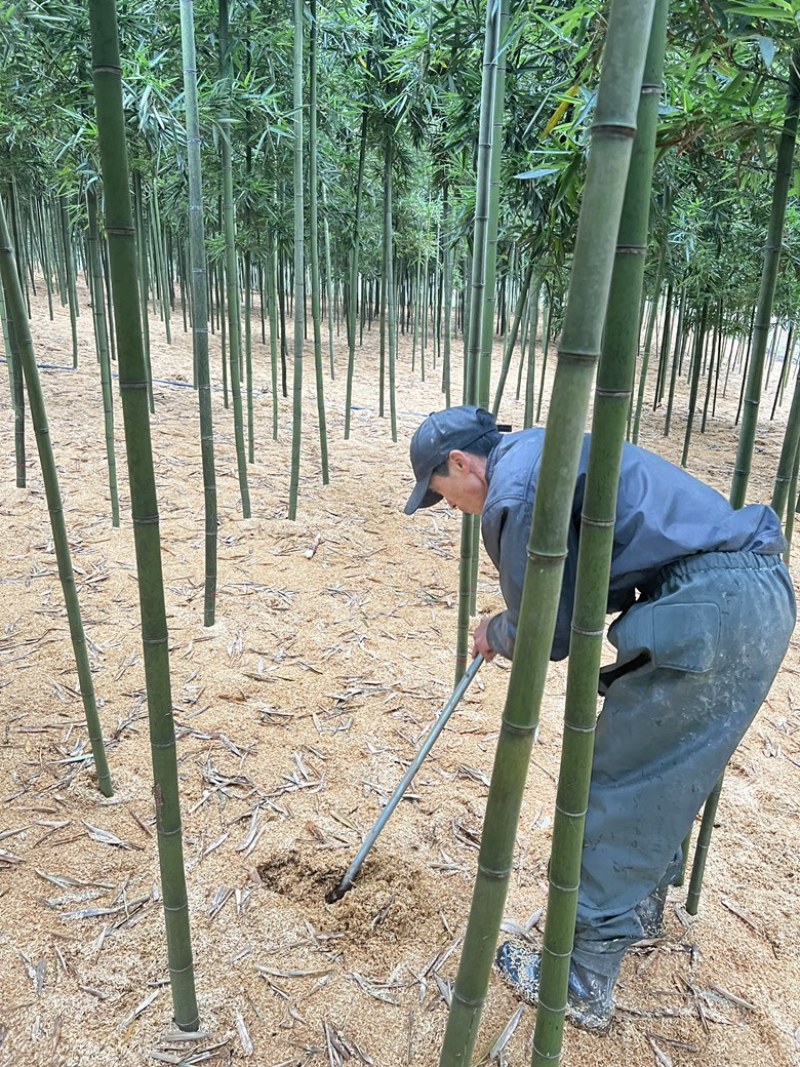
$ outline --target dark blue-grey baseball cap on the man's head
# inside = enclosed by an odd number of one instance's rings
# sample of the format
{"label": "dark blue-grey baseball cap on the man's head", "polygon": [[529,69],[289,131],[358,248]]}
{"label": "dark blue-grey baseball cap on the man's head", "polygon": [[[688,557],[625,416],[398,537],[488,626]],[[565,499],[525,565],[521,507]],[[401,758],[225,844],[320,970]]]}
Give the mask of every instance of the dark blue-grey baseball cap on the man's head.
{"label": "dark blue-grey baseball cap on the man's head", "polygon": [[418,508],[430,508],[442,499],[441,493],[429,488],[431,475],[453,449],[466,451],[485,433],[497,430],[494,415],[483,408],[463,404],[435,411],[421,423],[411,439],[411,465],[417,483],[404,511],[413,515]]}

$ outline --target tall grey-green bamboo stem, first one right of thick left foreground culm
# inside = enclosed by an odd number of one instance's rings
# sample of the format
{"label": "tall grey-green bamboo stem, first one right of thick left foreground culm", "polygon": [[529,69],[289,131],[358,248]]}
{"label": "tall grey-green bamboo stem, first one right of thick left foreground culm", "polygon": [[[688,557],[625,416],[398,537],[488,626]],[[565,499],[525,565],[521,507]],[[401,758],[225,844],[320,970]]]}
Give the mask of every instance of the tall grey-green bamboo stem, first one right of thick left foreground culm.
{"label": "tall grey-green bamboo stem, first one right of thick left foreground culm", "polygon": [[186,100],[189,172],[189,259],[192,292],[192,350],[199,405],[201,458],[205,499],[205,593],[203,624],[213,626],[217,614],[217,472],[214,467],[211,376],[208,360],[208,267],[203,221],[197,57],[194,43],[194,0],[180,0],[180,41]]}

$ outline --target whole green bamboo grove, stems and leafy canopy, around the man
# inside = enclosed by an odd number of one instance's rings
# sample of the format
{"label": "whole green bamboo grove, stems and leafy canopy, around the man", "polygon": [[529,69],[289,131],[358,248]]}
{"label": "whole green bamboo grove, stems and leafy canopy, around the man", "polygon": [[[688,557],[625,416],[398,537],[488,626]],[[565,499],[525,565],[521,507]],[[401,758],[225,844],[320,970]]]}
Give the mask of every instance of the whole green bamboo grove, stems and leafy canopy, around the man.
{"label": "whole green bamboo grove, stems and leafy canopy, around the man", "polygon": [[[533,6],[294,0],[291,10],[271,0],[93,0],[89,10],[68,0],[46,9],[5,0],[2,18],[0,315],[16,481],[26,480],[28,403],[54,538],[58,530],[93,757],[110,793],[113,767],[102,753],[82,652],[28,331],[30,294],[44,286],[51,314],[55,301],[68,309],[77,366],[84,281],[114,526],[125,522],[115,378],[122,398],[170,968],[183,1029],[196,1029],[198,1016],[149,456],[159,368],[148,309],[167,343],[181,329],[192,335],[207,626],[215,621],[218,538],[212,380],[221,381],[233,428],[242,519],[251,516],[249,479],[269,462],[279,412],[291,414],[288,519],[303,506],[301,446],[310,433],[319,455],[315,478],[324,484],[332,477],[329,457],[354,432],[365,331],[380,338],[370,389],[393,441],[401,337],[412,347],[404,369],[434,378],[443,404],[476,402],[502,416],[503,398],[515,387],[526,426],[542,418],[543,403],[550,413],[555,429],[548,424],[524,594],[524,603],[537,604],[538,636],[521,628],[527,671],[515,660],[442,1053],[443,1064],[468,1063],[545,684],[553,621],[546,605],[555,610],[563,496],[572,485],[563,472],[577,464],[601,349],[593,416],[599,432],[578,587],[586,593],[579,628],[592,639],[577,641],[570,669],[562,811],[579,812],[586,802],[614,471],[623,440],[639,437],[645,405],[667,436],[677,384],[686,380],[686,466],[692,434],[715,419],[719,398],[738,397],[730,493],[737,507],[747,499],[763,408],[770,418],[779,407],[788,409],[772,503],[790,539],[800,465],[794,18],[780,0],[673,3],[669,14],[663,0],[614,0],[610,9],[594,0]],[[43,57],[49,77],[31,77]],[[614,133],[606,142],[591,133],[593,125]],[[209,333],[221,340],[217,367],[209,363]],[[306,338],[311,368],[304,366]],[[546,397],[548,359],[558,370]],[[254,367],[269,368],[268,408],[257,402]],[[310,377],[313,415],[303,408]],[[338,378],[346,383],[336,423],[341,441],[329,433],[325,397]],[[467,663],[477,556],[477,527],[465,520],[452,635],[457,680]],[[690,910],[715,812],[713,796]],[[560,1054],[581,832],[579,815],[557,821],[555,840],[563,848],[553,880],[567,891],[551,892],[548,905],[542,988],[554,1006],[538,1019],[538,1064]]]}

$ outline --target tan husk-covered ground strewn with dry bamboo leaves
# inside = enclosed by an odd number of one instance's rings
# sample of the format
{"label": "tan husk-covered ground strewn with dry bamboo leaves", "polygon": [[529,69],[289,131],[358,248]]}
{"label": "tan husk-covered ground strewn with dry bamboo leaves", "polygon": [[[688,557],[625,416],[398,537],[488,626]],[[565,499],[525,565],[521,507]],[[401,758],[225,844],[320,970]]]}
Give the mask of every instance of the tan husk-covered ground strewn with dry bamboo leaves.
{"label": "tan husk-covered ground strewn with dry bamboo leaves", "polygon": [[[33,439],[14,485],[7,392],[0,420],[0,1065],[433,1067],[470,899],[508,666],[484,668],[370,854],[355,888],[325,895],[354,857],[452,685],[460,521],[409,520],[407,442],[442,405],[439,368],[411,370],[401,338],[398,443],[378,412],[378,338],[357,353],[343,441],[346,349],[325,375],[331,481],[320,478],[307,349],[298,519],[287,519],[290,401],[272,440],[269,349],[255,331],[253,517],[243,520],[233,420],[213,397],[220,573],[203,627],[203,487],[191,346],[151,322],[154,448],[182,791],[196,984],[205,1036],[171,1031],[142,646],[122,419],[123,521],[113,529],[102,407],[85,294],[81,365],[68,320],[34,300],[34,334],[66,506],[115,795],[95,789]],[[218,338],[212,338],[220,383]],[[457,349],[460,346],[457,344]],[[325,350],[325,359],[327,359]],[[57,369],[58,368],[58,369]],[[291,384],[291,367],[290,384]],[[4,371],[3,371],[4,375]],[[511,379],[515,378],[515,366]],[[774,372],[772,384],[774,383]],[[752,499],[768,499],[788,401],[758,434]],[[690,468],[727,492],[738,379]],[[513,385],[512,385],[513,389]],[[291,391],[290,391],[291,392]],[[642,443],[683,443],[646,415]],[[522,423],[518,404],[502,414]],[[118,415],[118,407],[117,407]],[[499,608],[483,560],[479,607]],[[533,939],[546,899],[564,669],[548,681],[506,909]],[[798,644],[736,753],[700,915],[670,901],[669,937],[633,954],[610,1034],[569,1029],[564,1063],[587,1067],[798,1063]],[[508,1026],[506,1036],[497,1040]],[[534,1014],[493,978],[478,1041],[529,1062]],[[510,1036],[509,1036],[510,1032]]]}

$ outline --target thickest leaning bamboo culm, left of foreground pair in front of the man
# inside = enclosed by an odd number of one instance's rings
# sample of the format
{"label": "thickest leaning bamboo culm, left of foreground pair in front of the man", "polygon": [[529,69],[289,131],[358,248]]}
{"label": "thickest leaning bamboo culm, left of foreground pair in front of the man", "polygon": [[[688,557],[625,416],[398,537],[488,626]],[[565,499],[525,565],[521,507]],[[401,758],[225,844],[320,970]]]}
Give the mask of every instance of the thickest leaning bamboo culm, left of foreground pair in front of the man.
{"label": "thickest leaning bamboo culm, left of foreground pair in front of the man", "polygon": [[[575,477],[627,180],[651,0],[613,0],[559,363],[542,456],[509,692],[442,1067],[470,1063],[513,866],[516,827],[556,627]],[[636,302],[638,309],[638,300]],[[596,682],[596,675],[592,684]]]}

